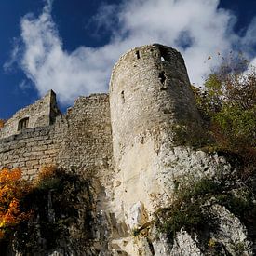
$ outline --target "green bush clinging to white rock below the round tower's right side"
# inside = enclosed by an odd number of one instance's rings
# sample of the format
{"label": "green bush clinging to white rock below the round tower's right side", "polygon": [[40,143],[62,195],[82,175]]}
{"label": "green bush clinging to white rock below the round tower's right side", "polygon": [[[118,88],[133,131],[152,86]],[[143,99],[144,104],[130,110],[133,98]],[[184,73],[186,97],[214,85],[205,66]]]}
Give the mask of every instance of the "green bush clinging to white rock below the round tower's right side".
{"label": "green bush clinging to white rock below the round tower's right side", "polygon": [[201,229],[209,222],[202,205],[220,190],[219,183],[206,178],[192,184],[180,184],[169,208],[158,209],[155,213],[158,228],[171,237],[182,227],[188,232]]}

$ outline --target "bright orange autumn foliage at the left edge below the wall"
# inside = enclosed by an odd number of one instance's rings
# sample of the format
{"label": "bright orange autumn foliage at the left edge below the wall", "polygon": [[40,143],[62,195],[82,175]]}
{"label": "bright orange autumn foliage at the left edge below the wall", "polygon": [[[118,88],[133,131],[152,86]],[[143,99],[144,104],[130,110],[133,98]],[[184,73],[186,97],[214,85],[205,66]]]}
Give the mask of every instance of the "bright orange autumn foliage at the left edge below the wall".
{"label": "bright orange autumn foliage at the left edge below the wall", "polygon": [[[42,168],[34,182],[21,179],[20,168],[0,170],[0,241],[10,238],[20,222],[33,217],[34,211],[27,199],[42,187],[45,181],[54,182],[56,168]],[[32,202],[31,202],[32,203]]]}

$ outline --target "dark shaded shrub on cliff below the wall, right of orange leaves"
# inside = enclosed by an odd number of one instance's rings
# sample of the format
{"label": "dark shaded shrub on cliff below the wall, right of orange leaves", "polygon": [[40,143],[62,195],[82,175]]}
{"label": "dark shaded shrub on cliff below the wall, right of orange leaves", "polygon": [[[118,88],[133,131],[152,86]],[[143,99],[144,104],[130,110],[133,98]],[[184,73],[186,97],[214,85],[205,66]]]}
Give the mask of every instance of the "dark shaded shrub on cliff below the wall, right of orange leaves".
{"label": "dark shaded shrub on cliff below the wall, right of orange leaves", "polygon": [[15,249],[24,255],[60,249],[71,242],[83,247],[91,237],[90,182],[73,172],[43,168],[23,205],[33,209],[30,220],[22,222],[16,232]]}

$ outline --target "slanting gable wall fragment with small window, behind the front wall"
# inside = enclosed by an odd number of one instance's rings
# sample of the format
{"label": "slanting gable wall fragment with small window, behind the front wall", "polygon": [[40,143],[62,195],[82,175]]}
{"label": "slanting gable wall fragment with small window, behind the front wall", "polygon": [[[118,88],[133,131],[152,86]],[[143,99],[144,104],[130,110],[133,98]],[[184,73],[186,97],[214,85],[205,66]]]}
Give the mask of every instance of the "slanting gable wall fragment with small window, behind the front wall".
{"label": "slanting gable wall fragment with small window, behind the front wall", "polygon": [[56,95],[50,90],[45,97],[21,109],[8,119],[4,128],[0,130],[0,138],[19,134],[19,122],[23,118],[28,118],[27,128],[36,128],[49,126],[57,115],[61,115],[61,112],[56,104]]}

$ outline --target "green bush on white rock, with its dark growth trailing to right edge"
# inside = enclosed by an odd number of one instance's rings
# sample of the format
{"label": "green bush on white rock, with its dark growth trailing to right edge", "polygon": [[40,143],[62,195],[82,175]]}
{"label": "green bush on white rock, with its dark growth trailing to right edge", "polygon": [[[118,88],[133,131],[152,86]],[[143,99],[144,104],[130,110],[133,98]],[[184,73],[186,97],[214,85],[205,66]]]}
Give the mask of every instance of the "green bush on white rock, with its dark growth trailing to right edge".
{"label": "green bush on white rock, with its dark growth trailing to right edge", "polygon": [[252,217],[256,213],[253,196],[246,189],[234,195],[232,189],[225,181],[216,182],[207,178],[197,182],[190,179],[189,184],[180,183],[169,207],[155,212],[159,231],[173,239],[182,228],[189,233],[196,231],[197,234],[205,229],[217,228],[207,209],[213,204],[224,206],[246,225],[255,226]]}

